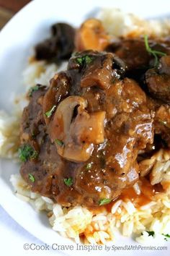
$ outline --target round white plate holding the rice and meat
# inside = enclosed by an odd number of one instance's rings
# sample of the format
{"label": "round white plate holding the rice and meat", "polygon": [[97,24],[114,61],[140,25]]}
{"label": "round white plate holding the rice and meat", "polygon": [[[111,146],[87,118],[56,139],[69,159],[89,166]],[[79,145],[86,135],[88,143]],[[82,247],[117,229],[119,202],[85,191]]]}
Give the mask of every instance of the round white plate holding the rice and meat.
{"label": "round white plate holding the rice and meat", "polygon": [[[0,109],[12,110],[12,98],[22,88],[22,71],[27,64],[31,48],[35,43],[47,38],[50,25],[53,22],[69,22],[80,25],[83,20],[99,9],[99,7],[120,7],[126,12],[134,12],[142,17],[170,16],[170,1],[126,1],[126,0],[35,0],[28,4],[1,30],[0,33]],[[63,239],[50,229],[48,218],[42,213],[36,213],[26,202],[17,199],[12,193],[9,183],[11,174],[17,173],[19,166],[12,161],[0,161],[0,203],[4,209],[21,226],[42,242],[48,244],[73,244],[69,239]],[[132,239],[122,236],[115,237],[117,246],[137,244]],[[152,245],[152,244],[151,244]],[[166,242],[167,245],[167,242]],[[75,244],[74,244],[75,246]],[[170,248],[169,248],[170,249]],[[117,251],[119,255],[148,255],[147,251]],[[170,251],[169,251],[170,252]],[[69,255],[84,254],[84,252],[65,251]],[[94,255],[94,252],[91,252]],[[112,255],[114,251],[100,252],[97,255]],[[158,251],[149,251],[150,255],[158,255]],[[167,255],[168,251],[161,251]]]}

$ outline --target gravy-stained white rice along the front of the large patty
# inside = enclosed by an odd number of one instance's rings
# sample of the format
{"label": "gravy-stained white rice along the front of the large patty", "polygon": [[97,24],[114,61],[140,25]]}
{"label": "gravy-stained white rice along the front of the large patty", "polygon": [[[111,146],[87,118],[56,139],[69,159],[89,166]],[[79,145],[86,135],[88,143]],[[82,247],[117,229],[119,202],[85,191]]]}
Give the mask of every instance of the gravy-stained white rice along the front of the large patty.
{"label": "gravy-stained white rice along the front of the large patty", "polygon": [[[123,236],[135,234],[136,241],[140,243],[149,243],[159,236],[164,241],[161,234],[169,234],[170,199],[167,193],[155,195],[153,201],[140,208],[135,208],[130,200],[118,200],[110,213],[102,210],[96,215],[81,206],[62,208],[48,197],[31,192],[19,174],[12,175],[11,182],[17,197],[30,202],[35,210],[47,211],[53,230],[76,242],[84,234],[86,242],[104,244],[107,240],[114,240],[115,229],[119,229]],[[154,231],[155,236],[148,239],[146,231]]]}

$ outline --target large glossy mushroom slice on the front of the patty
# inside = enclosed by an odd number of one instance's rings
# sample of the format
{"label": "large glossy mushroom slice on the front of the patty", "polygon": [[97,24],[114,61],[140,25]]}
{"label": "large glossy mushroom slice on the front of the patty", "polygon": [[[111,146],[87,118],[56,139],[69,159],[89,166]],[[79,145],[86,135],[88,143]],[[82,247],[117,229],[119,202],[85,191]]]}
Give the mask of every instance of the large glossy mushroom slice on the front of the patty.
{"label": "large glossy mushroom slice on the front of the patty", "polygon": [[49,124],[50,139],[58,154],[69,161],[87,161],[94,144],[104,142],[105,112],[89,114],[86,100],[70,96],[59,105]]}

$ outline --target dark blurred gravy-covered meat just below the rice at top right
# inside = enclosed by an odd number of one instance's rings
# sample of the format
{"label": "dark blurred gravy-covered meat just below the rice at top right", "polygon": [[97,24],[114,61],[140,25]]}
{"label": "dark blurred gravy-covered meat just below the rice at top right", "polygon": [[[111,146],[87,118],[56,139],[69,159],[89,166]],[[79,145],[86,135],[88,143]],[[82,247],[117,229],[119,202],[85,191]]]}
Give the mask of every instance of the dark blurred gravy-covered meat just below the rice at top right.
{"label": "dark blurred gravy-covered meat just below the rice at top right", "polygon": [[[148,40],[148,46],[152,51],[159,51],[165,55],[170,54],[170,41],[168,39]],[[148,51],[143,38],[120,38],[120,40],[110,43],[105,50],[116,54],[125,62],[125,70],[128,75],[131,73],[135,75],[136,72],[144,73],[149,67],[155,65],[155,56]],[[160,55],[158,55],[158,59],[159,57]],[[135,78],[138,80],[138,76]]]}

